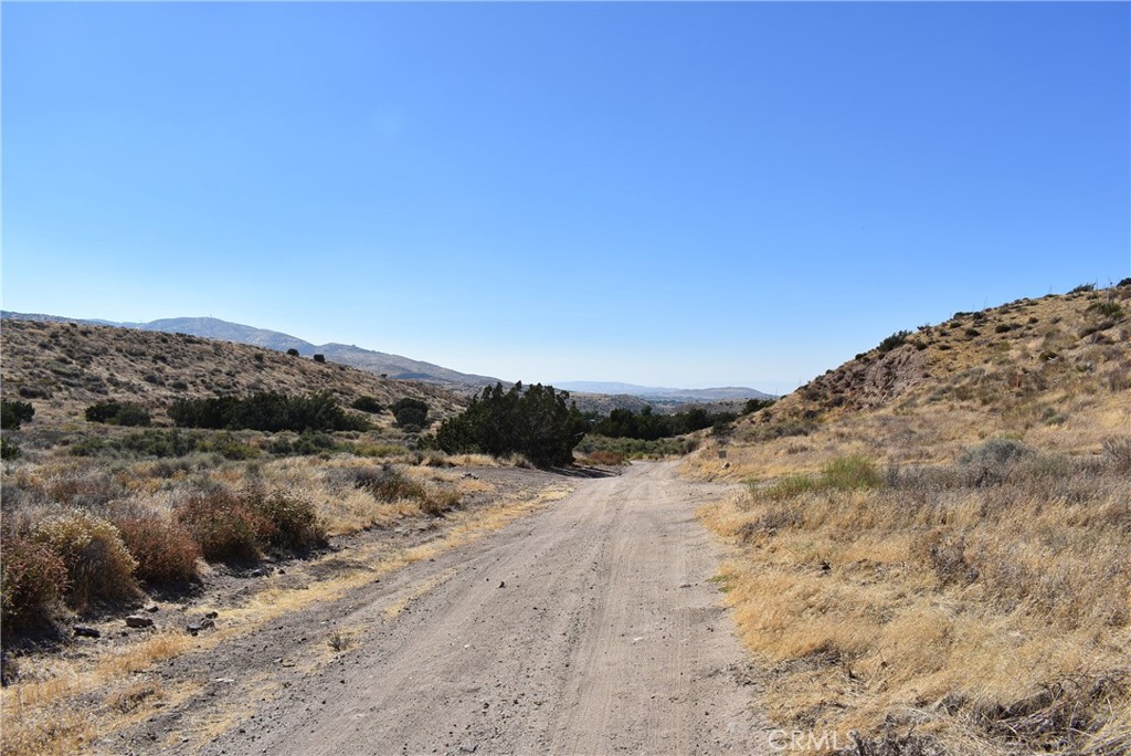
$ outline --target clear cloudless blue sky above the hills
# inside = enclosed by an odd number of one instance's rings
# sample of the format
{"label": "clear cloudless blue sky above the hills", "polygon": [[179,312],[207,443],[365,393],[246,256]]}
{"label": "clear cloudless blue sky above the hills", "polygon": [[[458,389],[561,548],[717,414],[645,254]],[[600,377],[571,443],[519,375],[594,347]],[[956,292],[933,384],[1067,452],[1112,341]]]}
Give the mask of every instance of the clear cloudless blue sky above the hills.
{"label": "clear cloudless blue sky above the hills", "polygon": [[1128,3],[10,3],[3,307],[784,392],[1131,275]]}

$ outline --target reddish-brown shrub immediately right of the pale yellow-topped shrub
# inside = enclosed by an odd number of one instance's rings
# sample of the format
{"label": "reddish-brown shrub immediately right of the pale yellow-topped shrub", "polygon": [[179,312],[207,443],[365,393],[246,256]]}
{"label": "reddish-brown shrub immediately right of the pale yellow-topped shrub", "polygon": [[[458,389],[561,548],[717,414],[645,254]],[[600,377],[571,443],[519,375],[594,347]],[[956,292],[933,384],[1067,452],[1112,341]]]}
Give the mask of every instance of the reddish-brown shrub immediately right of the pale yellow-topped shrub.
{"label": "reddish-brown shrub immediately right of the pale yellow-topped shrub", "polygon": [[140,515],[114,519],[126,548],[137,559],[138,579],[150,585],[195,581],[200,547],[180,523]]}

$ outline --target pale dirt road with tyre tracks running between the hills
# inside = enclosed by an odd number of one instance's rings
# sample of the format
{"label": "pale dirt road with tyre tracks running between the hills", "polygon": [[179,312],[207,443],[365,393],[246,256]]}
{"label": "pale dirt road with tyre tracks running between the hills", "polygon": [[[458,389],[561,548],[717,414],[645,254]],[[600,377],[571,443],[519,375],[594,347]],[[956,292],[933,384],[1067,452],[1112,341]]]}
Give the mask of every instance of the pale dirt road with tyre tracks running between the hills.
{"label": "pale dirt road with tyre tracks running between the hills", "polygon": [[[636,464],[354,602],[364,641],[206,753],[766,750],[742,650],[707,579],[702,487]],[[698,491],[698,492],[697,492]]]}

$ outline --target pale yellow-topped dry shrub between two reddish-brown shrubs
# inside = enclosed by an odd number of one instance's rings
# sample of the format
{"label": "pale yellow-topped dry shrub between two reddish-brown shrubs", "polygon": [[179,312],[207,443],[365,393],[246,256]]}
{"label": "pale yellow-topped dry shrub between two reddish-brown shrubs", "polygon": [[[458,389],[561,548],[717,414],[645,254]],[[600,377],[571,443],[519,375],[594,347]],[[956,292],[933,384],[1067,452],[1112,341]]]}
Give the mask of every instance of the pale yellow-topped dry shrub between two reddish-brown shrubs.
{"label": "pale yellow-topped dry shrub between two reddish-brown shrubs", "polygon": [[67,566],[67,601],[74,609],[83,611],[93,601],[137,596],[137,560],[109,521],[72,510],[40,523],[34,538]]}

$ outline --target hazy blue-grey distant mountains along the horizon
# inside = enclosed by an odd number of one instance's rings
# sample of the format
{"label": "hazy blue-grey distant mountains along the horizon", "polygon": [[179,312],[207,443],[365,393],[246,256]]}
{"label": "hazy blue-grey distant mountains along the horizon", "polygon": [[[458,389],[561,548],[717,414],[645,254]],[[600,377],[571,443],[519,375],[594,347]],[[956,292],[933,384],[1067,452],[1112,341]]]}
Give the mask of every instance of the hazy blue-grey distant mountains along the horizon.
{"label": "hazy blue-grey distant mountains along the horizon", "polygon": [[[218,341],[234,342],[236,344],[251,344],[264,349],[286,352],[297,350],[303,356],[322,354],[330,362],[348,364],[361,370],[366,370],[377,375],[387,375],[389,378],[402,380],[423,380],[431,384],[439,384],[450,390],[461,394],[470,394],[483,386],[491,386],[495,383],[503,383],[499,378],[491,376],[477,376],[474,373],[459,372],[450,368],[443,368],[431,362],[413,360],[399,354],[388,354],[373,350],[362,349],[349,344],[311,344],[296,336],[284,334],[278,330],[256,328],[238,323],[228,323],[218,318],[163,318],[149,323],[114,323],[112,320],[64,318],[57,315],[38,315],[26,312],[0,311],[0,317],[10,320],[45,320],[50,323],[84,323],[96,326],[115,326],[119,328],[135,328],[138,330],[156,330],[170,334],[189,334],[201,338],[215,338]],[[769,394],[753,388],[702,388],[702,389],[680,389],[680,388],[656,388],[649,386],[637,386],[633,384],[597,383],[597,381],[570,381],[554,384],[556,388],[569,392],[586,394],[606,394],[613,396],[632,396],[650,402],[663,403],[690,403],[690,402],[720,402],[729,400],[767,398]]]}

